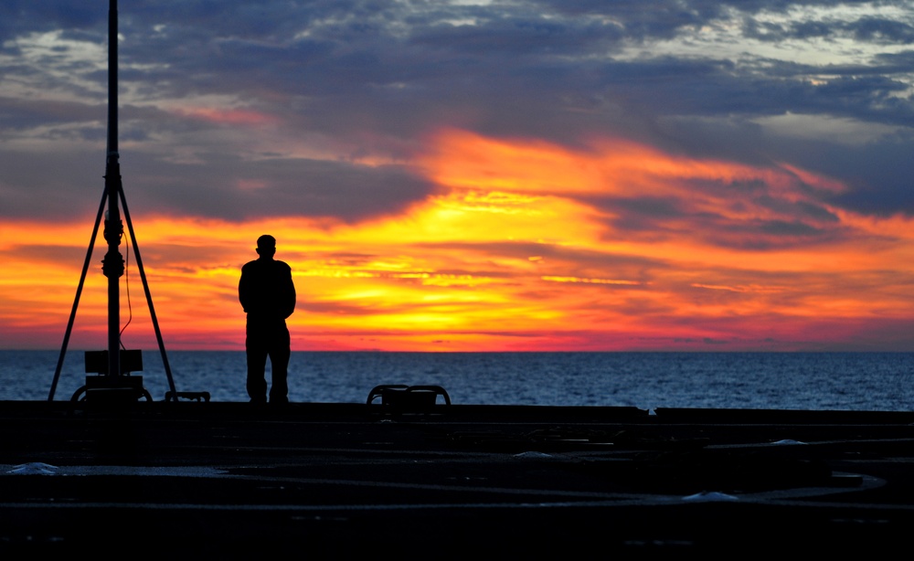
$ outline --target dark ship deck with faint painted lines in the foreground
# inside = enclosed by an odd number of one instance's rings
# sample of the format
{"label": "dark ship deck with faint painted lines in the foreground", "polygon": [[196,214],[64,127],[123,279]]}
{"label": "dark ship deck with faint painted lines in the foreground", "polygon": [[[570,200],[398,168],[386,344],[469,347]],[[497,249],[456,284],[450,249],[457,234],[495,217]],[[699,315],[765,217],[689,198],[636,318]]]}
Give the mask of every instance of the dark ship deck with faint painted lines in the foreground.
{"label": "dark ship deck with faint painted lines in the foreground", "polygon": [[0,554],[908,551],[914,413],[656,413],[0,402]]}

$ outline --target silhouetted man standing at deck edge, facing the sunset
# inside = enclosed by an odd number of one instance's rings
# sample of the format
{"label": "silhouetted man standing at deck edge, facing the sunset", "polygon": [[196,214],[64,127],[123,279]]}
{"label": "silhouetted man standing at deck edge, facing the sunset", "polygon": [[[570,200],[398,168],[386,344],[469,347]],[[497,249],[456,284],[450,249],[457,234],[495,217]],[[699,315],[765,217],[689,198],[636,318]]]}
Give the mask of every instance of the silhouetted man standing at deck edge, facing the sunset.
{"label": "silhouetted man standing at deck edge, facing the sunset", "polygon": [[238,299],[248,313],[248,396],[252,403],[265,403],[267,381],[264,372],[270,357],[272,385],[271,403],[287,403],[289,386],[286,382],[289,367],[290,342],[286,318],[295,311],[295,285],[292,268],[283,261],[273,259],[276,238],[269,235],[257,238],[259,259],[241,268]]}

